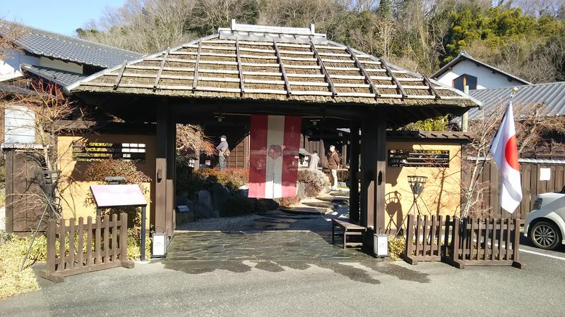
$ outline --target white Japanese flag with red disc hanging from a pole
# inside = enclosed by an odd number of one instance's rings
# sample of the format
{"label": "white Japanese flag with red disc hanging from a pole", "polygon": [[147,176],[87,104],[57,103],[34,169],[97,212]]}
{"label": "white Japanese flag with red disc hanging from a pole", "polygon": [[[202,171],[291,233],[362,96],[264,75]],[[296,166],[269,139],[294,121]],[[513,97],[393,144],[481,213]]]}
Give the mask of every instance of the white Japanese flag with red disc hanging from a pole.
{"label": "white Japanese flag with red disc hanging from a pole", "polygon": [[492,139],[489,151],[501,172],[500,206],[509,213],[513,213],[522,201],[522,183],[518,168],[518,144],[516,144],[512,101],[506,108],[506,113],[504,113],[499,130]]}

